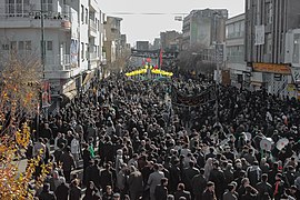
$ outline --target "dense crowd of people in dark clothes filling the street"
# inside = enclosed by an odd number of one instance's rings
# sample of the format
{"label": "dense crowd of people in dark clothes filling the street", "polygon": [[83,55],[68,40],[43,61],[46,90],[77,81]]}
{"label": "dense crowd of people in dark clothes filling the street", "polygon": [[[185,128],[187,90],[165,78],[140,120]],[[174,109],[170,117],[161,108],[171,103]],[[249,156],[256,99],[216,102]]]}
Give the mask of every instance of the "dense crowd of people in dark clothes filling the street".
{"label": "dense crowd of people in dark clothes filling the street", "polygon": [[[187,96],[209,82],[189,79],[171,81]],[[214,102],[170,108],[169,86],[111,74],[42,120],[27,156],[43,149],[54,166],[37,199],[300,199],[296,99],[220,86],[217,117]],[[279,150],[281,138],[289,143]]]}

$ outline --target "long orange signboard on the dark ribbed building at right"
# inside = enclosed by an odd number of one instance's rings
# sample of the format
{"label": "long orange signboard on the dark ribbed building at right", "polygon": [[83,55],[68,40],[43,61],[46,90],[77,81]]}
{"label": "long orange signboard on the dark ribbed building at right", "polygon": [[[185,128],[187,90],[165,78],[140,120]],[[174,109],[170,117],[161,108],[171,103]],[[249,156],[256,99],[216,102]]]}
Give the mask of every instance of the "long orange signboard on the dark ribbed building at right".
{"label": "long orange signboard on the dark ribbed building at right", "polygon": [[254,62],[253,70],[269,73],[291,74],[291,69],[289,64]]}

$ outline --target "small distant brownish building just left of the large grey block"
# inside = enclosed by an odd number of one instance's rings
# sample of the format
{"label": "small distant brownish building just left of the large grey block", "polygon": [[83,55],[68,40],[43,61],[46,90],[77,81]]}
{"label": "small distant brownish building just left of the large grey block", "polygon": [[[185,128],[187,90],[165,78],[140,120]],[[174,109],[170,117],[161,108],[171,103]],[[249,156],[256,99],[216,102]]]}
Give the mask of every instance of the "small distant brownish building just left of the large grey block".
{"label": "small distant brownish building just left of the large grey block", "polygon": [[177,31],[160,32],[160,42],[163,50],[179,51],[182,41],[182,34]]}

